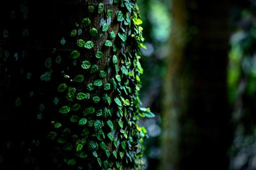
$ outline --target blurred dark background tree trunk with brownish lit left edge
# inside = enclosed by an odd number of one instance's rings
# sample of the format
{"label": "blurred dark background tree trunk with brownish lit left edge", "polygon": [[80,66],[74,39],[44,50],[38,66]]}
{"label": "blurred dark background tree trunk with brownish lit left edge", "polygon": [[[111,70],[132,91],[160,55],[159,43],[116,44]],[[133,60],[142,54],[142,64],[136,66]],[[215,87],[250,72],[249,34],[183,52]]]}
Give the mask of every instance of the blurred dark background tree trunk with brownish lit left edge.
{"label": "blurred dark background tree trunk with brownish lit left edge", "polygon": [[161,169],[227,169],[227,1],[173,0]]}

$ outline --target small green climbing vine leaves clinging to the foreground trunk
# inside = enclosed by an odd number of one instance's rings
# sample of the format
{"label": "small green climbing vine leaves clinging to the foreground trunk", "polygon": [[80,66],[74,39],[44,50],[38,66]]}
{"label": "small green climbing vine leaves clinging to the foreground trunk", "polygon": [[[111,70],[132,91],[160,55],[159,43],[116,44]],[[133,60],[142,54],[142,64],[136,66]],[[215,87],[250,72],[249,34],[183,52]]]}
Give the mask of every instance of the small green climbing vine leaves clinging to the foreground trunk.
{"label": "small green climbing vine leaves clinging to the foreground trunk", "polygon": [[[138,6],[132,0],[113,3],[118,10],[108,10],[104,3],[88,5],[88,16],[70,32],[76,41],[69,58],[74,68],[63,71],[56,88],[59,113],[48,138],[57,143],[54,161],[77,169],[139,169],[147,131],[138,120],[154,117],[148,108],[140,108],[138,96],[143,73],[140,48],[145,47]],[[93,15],[106,20],[115,15],[112,22],[119,31],[111,30],[111,22],[93,27]],[[95,39],[102,39],[102,34],[108,38],[97,49]],[[42,75],[41,80],[47,77]]]}

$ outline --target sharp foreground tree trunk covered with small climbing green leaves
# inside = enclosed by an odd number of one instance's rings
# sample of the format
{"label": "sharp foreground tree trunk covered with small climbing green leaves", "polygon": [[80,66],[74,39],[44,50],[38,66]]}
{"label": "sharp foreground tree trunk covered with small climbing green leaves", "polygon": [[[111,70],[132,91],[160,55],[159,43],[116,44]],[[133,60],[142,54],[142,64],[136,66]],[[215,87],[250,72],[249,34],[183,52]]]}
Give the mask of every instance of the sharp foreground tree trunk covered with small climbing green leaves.
{"label": "sharp foreground tree trunk covered with small climbing green leaves", "polygon": [[28,0],[0,8],[0,169],[140,166],[136,3]]}

